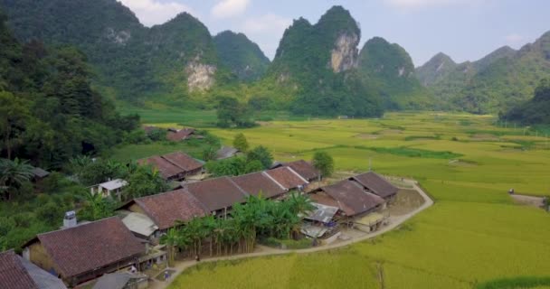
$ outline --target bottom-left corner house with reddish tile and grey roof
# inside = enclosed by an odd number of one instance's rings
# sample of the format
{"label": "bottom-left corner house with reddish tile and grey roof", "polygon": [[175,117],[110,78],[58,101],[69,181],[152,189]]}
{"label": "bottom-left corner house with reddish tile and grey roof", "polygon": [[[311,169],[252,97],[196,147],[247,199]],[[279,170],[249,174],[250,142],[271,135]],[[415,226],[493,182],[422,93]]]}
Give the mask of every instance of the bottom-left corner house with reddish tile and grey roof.
{"label": "bottom-left corner house with reddish tile and grey roof", "polygon": [[16,255],[0,253],[0,288],[3,289],[67,289],[62,280]]}

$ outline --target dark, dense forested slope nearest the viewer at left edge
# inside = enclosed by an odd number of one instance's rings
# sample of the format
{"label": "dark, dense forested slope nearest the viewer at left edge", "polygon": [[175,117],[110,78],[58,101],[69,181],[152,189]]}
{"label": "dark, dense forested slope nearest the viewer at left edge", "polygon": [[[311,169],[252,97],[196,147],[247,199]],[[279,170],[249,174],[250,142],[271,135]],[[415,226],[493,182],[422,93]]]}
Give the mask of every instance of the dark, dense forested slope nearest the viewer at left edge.
{"label": "dark, dense forested slope nearest the viewer at left edge", "polygon": [[86,56],[72,47],[15,40],[0,13],[0,157],[59,168],[119,143],[138,126],[90,87]]}

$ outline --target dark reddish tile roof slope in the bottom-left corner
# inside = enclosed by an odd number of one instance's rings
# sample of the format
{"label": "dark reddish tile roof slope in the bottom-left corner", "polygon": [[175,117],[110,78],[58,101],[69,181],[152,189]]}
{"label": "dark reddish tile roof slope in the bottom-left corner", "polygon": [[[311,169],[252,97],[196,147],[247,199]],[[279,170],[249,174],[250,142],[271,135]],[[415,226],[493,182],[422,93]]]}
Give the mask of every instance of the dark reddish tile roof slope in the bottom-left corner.
{"label": "dark reddish tile roof slope in the bottom-left corner", "polygon": [[0,253],[0,288],[39,289],[20,258],[13,251]]}

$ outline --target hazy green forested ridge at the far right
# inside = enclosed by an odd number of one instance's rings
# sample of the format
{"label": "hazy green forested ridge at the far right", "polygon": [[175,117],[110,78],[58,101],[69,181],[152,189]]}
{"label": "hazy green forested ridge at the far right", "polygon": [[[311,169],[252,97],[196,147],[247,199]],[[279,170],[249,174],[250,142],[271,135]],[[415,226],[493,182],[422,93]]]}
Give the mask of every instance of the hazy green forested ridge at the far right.
{"label": "hazy green forested ridge at the far right", "polygon": [[499,48],[479,61],[456,64],[444,54],[416,70],[422,84],[450,109],[473,113],[507,111],[531,98],[541,79],[550,77],[550,32],[519,51]]}

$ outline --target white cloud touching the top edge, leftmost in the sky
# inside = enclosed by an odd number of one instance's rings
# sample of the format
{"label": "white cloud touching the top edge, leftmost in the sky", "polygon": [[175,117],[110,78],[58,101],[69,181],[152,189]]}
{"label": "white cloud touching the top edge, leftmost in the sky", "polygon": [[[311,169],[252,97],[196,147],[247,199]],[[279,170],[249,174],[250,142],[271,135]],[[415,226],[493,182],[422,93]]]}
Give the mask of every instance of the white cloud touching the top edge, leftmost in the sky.
{"label": "white cloud touching the top edge, leftmost in the sky", "polygon": [[158,0],[119,0],[119,2],[130,8],[139,21],[149,27],[166,23],[182,12],[194,14],[191,8],[176,2],[160,2]]}

